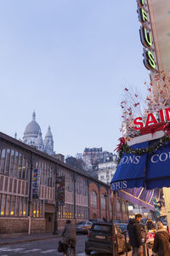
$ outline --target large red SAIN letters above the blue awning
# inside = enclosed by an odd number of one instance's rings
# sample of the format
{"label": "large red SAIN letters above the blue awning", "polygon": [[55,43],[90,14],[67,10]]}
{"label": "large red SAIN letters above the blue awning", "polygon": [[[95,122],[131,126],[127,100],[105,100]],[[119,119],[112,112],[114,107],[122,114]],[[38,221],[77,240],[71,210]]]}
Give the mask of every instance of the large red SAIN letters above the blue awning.
{"label": "large red SAIN letters above the blue awning", "polygon": [[148,113],[145,125],[143,119],[141,117],[137,117],[136,119],[133,119],[134,130],[140,130],[144,126],[147,127],[149,125],[156,125],[160,122],[170,121],[169,113],[170,108],[161,109],[156,113]]}

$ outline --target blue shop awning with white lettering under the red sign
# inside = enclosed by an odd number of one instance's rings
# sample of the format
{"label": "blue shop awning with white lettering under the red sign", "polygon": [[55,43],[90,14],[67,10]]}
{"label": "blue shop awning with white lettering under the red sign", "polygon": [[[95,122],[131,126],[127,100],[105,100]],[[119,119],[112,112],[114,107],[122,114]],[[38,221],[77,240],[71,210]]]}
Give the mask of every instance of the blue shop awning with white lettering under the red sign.
{"label": "blue shop awning with white lettering under the red sign", "polygon": [[[146,148],[157,140],[139,143],[131,148]],[[170,187],[170,144],[150,154],[123,154],[116,173],[111,180],[111,189],[127,188],[156,189]]]}

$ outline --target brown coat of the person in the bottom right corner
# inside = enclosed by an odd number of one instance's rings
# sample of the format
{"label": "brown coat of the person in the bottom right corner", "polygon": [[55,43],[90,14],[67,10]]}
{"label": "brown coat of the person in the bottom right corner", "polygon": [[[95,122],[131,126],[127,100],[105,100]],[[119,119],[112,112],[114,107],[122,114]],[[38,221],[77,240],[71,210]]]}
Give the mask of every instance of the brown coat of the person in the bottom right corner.
{"label": "brown coat of the person in the bottom right corner", "polygon": [[170,236],[166,230],[156,231],[152,251],[153,253],[157,253],[158,256],[170,255]]}

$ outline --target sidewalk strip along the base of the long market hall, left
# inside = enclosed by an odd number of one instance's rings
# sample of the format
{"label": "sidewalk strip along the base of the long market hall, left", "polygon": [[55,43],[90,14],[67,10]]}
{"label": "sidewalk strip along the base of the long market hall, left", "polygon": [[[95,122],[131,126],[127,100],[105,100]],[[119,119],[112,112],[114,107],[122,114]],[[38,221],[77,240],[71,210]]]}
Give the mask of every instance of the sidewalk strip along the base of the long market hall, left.
{"label": "sidewalk strip along the base of the long market hall, left", "polygon": [[20,233],[20,234],[0,234],[0,246],[10,245],[10,244],[16,244],[26,241],[38,241],[38,240],[44,240],[44,239],[53,239],[56,237],[61,236],[53,235],[51,233],[42,233],[42,234],[31,234],[28,235],[26,233]]}

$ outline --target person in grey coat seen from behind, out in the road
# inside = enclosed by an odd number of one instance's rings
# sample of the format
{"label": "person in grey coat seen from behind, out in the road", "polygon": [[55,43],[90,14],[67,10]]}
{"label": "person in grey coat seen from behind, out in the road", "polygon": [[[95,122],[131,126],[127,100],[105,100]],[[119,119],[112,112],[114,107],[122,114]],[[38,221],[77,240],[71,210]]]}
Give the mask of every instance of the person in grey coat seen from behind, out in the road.
{"label": "person in grey coat seen from behind, out in the road", "polygon": [[[75,255],[75,248],[77,245],[77,230],[75,228],[75,225],[71,224],[70,219],[66,221],[65,229],[62,233],[61,242],[63,244],[64,256]],[[71,251],[71,253],[68,253],[68,250]]]}

